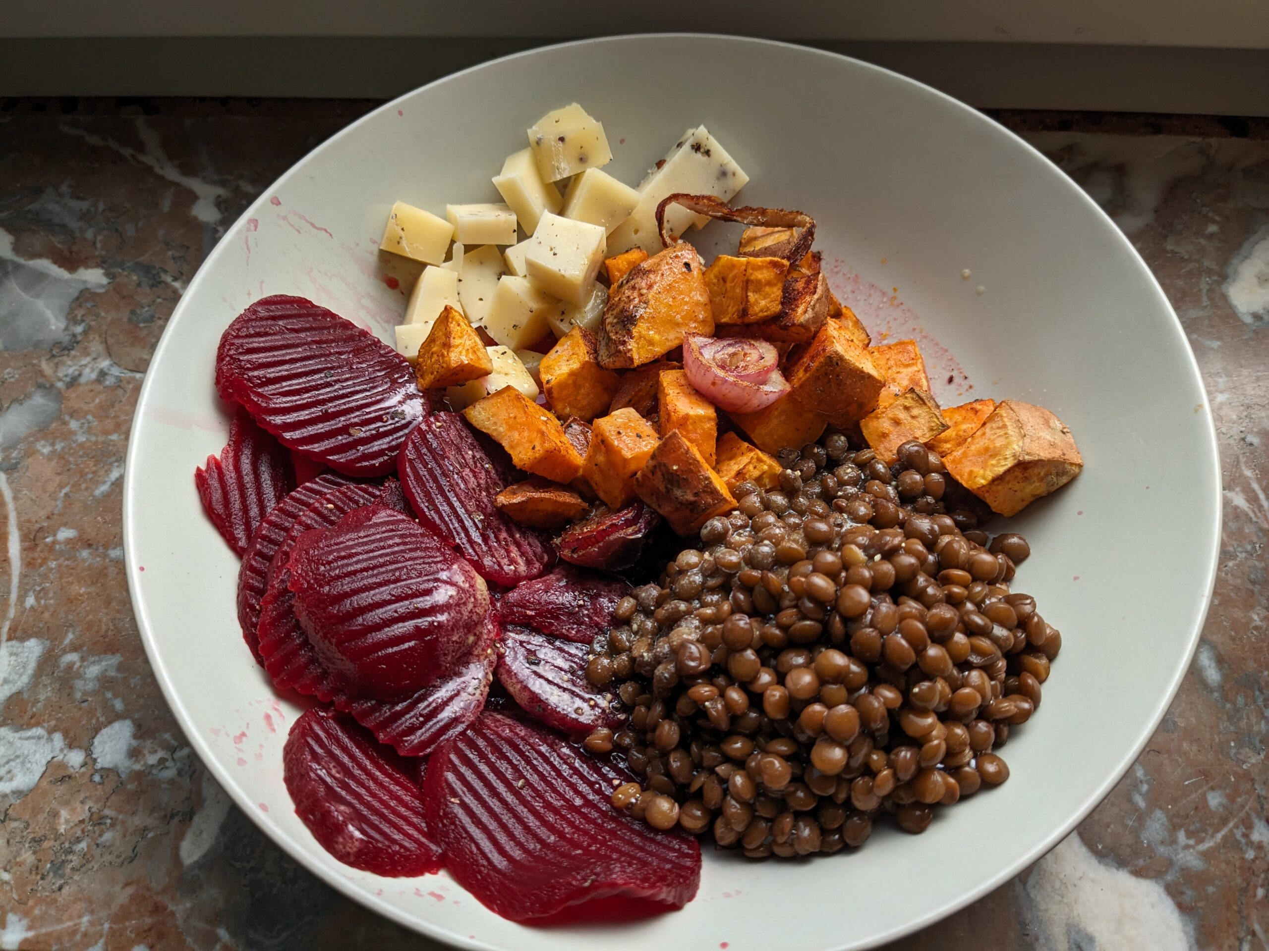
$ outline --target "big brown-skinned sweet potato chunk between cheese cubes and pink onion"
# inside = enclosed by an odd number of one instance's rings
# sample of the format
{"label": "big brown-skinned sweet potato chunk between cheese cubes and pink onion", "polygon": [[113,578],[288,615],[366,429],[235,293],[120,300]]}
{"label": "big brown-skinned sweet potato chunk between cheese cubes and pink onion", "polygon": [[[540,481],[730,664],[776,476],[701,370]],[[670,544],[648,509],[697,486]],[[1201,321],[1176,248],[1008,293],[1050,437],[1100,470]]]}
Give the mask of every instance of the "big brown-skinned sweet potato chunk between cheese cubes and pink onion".
{"label": "big brown-skinned sweet potato chunk between cheese cubes and pink onion", "polygon": [[608,294],[599,335],[599,365],[642,366],[683,344],[713,333],[704,262],[680,241],[636,265]]}

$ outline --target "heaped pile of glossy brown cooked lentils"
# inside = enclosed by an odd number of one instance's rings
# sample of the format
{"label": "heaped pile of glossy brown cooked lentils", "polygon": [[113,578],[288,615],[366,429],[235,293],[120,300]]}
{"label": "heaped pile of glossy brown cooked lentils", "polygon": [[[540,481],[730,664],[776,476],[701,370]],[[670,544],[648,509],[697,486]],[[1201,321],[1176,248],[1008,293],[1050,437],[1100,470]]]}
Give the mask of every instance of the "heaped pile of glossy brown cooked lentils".
{"label": "heaped pile of glossy brown cooked lentils", "polygon": [[780,491],[739,486],[586,668],[631,710],[585,741],[640,777],[613,805],[751,858],[857,847],[887,814],[923,832],[1004,782],[1062,640],[1010,591],[1025,539],[978,530],[920,443],[893,467],[840,434],[778,459]]}

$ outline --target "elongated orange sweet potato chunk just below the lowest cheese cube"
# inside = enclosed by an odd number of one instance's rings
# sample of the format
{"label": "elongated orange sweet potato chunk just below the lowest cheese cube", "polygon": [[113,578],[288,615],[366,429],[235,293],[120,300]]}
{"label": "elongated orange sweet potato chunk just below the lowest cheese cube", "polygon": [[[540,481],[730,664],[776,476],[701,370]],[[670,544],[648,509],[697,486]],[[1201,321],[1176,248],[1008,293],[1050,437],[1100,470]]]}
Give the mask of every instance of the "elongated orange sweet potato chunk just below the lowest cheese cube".
{"label": "elongated orange sweet potato chunk just below the lowest cheese cube", "polygon": [[571,482],[581,472],[581,456],[560,420],[515,387],[503,387],[463,410],[467,422],[494,437],[520,469]]}

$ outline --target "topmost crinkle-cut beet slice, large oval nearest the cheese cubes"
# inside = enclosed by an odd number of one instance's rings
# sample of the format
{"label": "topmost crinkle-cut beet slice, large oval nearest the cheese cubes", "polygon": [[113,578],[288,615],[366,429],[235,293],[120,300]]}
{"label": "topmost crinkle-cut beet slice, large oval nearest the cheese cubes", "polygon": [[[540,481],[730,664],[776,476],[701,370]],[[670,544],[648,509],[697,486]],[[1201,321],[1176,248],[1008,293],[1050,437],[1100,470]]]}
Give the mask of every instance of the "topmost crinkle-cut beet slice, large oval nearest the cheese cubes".
{"label": "topmost crinkle-cut beet slice, large oval nearest the cheese cubes", "polygon": [[225,331],[216,389],[284,446],[349,476],[391,472],[425,411],[414,370],[392,347],[284,294],[256,301]]}

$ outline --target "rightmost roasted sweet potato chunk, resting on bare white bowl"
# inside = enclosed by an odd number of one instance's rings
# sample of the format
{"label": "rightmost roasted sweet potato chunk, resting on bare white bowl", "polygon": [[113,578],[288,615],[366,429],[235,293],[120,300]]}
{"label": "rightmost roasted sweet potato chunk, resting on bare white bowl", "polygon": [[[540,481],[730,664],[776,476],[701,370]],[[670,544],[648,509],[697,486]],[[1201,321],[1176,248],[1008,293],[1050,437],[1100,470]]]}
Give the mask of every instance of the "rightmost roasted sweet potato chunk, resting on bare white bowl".
{"label": "rightmost roasted sweet potato chunk, resting on bare white bowl", "polygon": [[1005,399],[978,431],[944,456],[948,474],[999,515],[1016,515],[1080,474],[1084,460],[1048,410]]}

